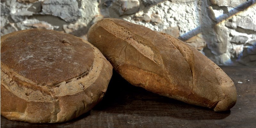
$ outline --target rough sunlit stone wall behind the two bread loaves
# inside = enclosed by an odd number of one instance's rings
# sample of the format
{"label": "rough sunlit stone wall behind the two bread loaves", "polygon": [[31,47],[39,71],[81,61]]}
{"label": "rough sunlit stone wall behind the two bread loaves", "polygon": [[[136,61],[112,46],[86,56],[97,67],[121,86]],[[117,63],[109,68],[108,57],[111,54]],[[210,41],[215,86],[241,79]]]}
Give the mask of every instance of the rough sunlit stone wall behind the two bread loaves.
{"label": "rough sunlit stone wall behind the two bread loaves", "polygon": [[256,66],[255,0],[1,0],[1,36],[45,28],[87,39],[109,17],[168,33],[218,65]]}

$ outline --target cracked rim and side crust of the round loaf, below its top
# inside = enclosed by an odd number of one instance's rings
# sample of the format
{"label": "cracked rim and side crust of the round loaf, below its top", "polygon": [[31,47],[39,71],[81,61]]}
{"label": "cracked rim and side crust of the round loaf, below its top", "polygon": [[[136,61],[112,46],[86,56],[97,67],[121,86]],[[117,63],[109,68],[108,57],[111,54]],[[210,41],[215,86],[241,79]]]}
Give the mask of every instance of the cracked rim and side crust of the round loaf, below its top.
{"label": "cracked rim and side crust of the round loaf, below its top", "polygon": [[[1,37],[1,46],[4,39]],[[1,115],[15,121],[57,123],[76,118],[95,106],[107,90],[112,66],[92,44],[82,43],[92,48],[92,60],[88,60],[92,61],[91,67],[85,65],[86,73],[73,74],[67,81],[55,84],[40,85],[20,75],[2,62],[1,54]]]}

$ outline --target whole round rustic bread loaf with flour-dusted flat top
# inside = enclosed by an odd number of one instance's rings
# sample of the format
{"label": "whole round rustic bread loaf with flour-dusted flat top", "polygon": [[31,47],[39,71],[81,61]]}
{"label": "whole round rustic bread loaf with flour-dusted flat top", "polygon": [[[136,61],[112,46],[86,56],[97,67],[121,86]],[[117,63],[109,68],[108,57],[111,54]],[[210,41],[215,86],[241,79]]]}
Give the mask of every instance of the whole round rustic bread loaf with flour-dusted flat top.
{"label": "whole round rustic bread loaf with flour-dusted flat top", "polygon": [[112,66],[89,42],[45,29],[1,37],[1,115],[57,123],[92,109],[103,97]]}

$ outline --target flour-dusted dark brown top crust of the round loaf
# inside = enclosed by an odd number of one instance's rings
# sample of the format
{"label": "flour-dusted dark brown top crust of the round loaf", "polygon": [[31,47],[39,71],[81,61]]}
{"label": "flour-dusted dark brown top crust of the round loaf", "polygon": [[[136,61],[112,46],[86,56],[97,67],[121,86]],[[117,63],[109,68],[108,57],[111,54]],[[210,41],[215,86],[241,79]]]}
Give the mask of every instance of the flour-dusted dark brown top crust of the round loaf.
{"label": "flour-dusted dark brown top crust of the round loaf", "polygon": [[[92,66],[93,48],[70,34],[29,29],[1,37],[1,66],[39,85],[58,84]],[[82,59],[83,58],[83,59]]]}

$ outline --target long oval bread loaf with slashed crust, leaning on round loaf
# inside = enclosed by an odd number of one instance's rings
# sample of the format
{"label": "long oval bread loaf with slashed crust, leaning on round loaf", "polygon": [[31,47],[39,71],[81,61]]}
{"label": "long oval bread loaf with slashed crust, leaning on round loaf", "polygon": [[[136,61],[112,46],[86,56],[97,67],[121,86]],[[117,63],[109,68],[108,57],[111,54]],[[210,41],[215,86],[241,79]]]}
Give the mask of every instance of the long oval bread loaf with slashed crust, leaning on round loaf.
{"label": "long oval bread loaf with slashed crust, leaning on round loaf", "polygon": [[88,41],[135,86],[214,111],[236,103],[235,85],[225,72],[170,35],[107,18],[92,25]]}

